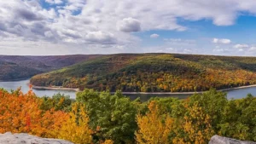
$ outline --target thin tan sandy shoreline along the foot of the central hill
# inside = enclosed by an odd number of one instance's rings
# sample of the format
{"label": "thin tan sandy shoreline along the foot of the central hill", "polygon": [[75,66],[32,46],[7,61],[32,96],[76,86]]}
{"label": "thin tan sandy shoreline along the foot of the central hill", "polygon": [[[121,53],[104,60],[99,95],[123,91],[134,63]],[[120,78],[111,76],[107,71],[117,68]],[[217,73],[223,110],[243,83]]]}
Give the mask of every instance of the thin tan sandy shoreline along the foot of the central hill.
{"label": "thin tan sandy shoreline along the foot of the central hill", "polygon": [[[252,84],[252,85],[245,85],[245,86],[240,86],[240,87],[236,87],[236,88],[228,88],[228,89],[218,89],[218,91],[230,91],[230,90],[234,90],[234,89],[246,89],[246,88],[253,88],[256,87],[256,84]],[[53,86],[53,87],[43,87],[43,86],[35,86],[32,85],[32,89],[38,89],[38,90],[72,90],[75,92],[79,92],[81,90],[79,90],[78,88],[63,88],[63,87],[57,87],[57,86]],[[193,91],[193,92],[122,92],[122,94],[124,95],[194,95],[194,94],[202,94],[206,91]],[[115,92],[110,92],[111,94],[115,93]]]}

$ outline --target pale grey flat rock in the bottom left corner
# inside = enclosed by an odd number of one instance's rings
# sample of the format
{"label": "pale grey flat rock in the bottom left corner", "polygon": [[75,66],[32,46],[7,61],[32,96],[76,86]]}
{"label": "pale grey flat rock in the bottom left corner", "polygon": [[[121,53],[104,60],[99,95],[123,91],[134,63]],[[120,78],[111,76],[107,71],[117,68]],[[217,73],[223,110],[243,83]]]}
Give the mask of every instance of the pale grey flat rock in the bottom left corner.
{"label": "pale grey flat rock in the bottom left corner", "polygon": [[70,141],[47,139],[28,134],[0,134],[0,144],[73,144]]}

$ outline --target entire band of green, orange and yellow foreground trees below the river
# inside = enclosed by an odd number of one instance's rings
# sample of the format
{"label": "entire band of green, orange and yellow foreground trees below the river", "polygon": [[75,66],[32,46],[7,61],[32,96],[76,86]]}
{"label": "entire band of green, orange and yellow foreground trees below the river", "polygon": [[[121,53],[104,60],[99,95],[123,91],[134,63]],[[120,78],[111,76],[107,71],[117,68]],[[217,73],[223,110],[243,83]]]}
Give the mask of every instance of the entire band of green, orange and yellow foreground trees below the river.
{"label": "entire band of green, orange and yellow foreground trees below the river", "polygon": [[38,98],[0,89],[0,133],[29,133],[79,144],[205,144],[212,135],[256,141],[256,98],[230,100],[211,89],[186,100],[131,101],[117,91]]}

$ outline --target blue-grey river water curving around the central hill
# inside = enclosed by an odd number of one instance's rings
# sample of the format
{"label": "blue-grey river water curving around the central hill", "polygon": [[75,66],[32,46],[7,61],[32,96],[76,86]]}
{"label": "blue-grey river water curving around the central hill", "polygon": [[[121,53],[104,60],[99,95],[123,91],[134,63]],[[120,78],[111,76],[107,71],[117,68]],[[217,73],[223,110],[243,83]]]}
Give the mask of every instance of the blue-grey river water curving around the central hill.
{"label": "blue-grey river water curving around the central hill", "polygon": [[[26,93],[29,90],[29,80],[20,80],[20,81],[11,81],[11,82],[0,82],[0,88],[11,90],[11,89],[17,89],[21,86],[21,91]],[[75,98],[76,92],[73,90],[38,90],[38,89],[33,89],[33,92],[38,95],[38,96],[52,96],[57,93],[61,93],[64,95],[70,95],[71,98]],[[241,99],[245,97],[248,93],[252,95],[256,95],[256,87],[250,87],[250,88],[244,88],[244,89],[232,89],[227,91],[227,96],[228,99],[234,98],[234,99]],[[126,95],[131,98],[131,100],[136,99],[137,97],[140,97],[142,101],[147,101],[151,97],[177,97],[180,99],[184,99],[188,97],[189,95],[168,95],[168,94],[131,94],[131,95]]]}

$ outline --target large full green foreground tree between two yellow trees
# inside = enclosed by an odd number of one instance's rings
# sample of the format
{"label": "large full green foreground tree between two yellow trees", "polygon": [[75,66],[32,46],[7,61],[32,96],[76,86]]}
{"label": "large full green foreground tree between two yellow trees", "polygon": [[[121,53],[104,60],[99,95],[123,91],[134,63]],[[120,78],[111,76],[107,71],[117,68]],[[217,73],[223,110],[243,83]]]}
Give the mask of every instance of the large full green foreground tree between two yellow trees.
{"label": "large full green foreground tree between two yellow trees", "polygon": [[77,94],[77,101],[85,104],[90,117],[90,127],[95,134],[94,141],[113,140],[114,143],[134,141],[137,129],[135,117],[137,105],[117,91],[99,93],[93,89],[84,89]]}

